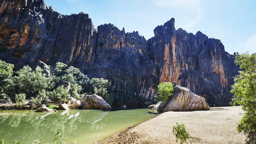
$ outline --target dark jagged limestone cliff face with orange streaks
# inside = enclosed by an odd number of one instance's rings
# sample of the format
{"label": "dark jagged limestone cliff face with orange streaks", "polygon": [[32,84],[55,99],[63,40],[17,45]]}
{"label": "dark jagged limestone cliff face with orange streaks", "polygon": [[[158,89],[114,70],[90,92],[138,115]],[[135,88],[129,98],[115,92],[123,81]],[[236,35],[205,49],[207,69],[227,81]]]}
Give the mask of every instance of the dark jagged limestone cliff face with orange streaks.
{"label": "dark jagged limestone cliff face with orange streaks", "polygon": [[153,99],[160,82],[179,82],[208,103],[227,103],[238,68],[221,41],[174,28],[174,18],[146,41],[111,24],[95,31],[88,14],[61,15],[43,0],[0,0],[0,59],[15,69],[36,61],[57,61],[90,77],[134,84]]}

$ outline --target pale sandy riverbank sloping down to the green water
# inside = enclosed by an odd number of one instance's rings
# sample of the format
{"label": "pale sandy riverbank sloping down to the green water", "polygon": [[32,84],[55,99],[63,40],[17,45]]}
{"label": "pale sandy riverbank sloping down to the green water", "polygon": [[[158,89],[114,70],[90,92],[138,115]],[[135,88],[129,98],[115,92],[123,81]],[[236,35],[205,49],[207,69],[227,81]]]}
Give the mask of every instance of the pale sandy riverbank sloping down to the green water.
{"label": "pale sandy riverbank sloping down to the green water", "polygon": [[[243,144],[245,136],[236,131],[243,113],[241,106],[219,107],[222,110],[165,112],[130,129],[119,132],[102,144],[175,144],[172,127],[185,123],[196,144]],[[212,109],[212,108],[211,108]]]}

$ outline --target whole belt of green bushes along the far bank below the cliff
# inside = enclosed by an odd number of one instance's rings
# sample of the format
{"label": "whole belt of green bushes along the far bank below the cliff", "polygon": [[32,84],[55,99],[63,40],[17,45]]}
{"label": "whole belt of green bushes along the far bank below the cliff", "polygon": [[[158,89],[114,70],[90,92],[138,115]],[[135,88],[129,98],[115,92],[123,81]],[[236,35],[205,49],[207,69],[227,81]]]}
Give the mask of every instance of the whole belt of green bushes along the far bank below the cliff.
{"label": "whole belt of green bushes along the far bank below the cliff", "polygon": [[71,104],[70,97],[82,100],[93,94],[112,107],[138,106],[146,102],[144,97],[133,93],[131,82],[110,83],[103,78],[89,78],[79,69],[61,62],[48,66],[38,61],[34,65],[14,71],[13,64],[0,60],[0,109],[38,109],[43,104],[59,106]]}

